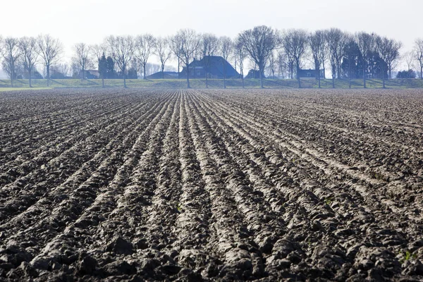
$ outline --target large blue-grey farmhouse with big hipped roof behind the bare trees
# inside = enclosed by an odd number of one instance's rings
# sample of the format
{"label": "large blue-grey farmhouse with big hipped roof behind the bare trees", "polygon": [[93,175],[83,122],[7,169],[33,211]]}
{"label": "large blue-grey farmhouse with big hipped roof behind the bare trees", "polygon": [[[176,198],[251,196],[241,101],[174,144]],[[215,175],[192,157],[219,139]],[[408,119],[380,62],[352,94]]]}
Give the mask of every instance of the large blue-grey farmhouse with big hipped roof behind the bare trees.
{"label": "large blue-grey farmhouse with big hipped roof behind the bare trees", "polygon": [[[189,68],[190,78],[205,78],[206,73],[208,78],[223,78],[224,73],[226,73],[226,78],[240,77],[240,74],[238,71],[235,71],[231,63],[228,63],[228,61],[221,56],[204,56],[203,59],[194,60],[190,63]],[[185,67],[183,67],[179,77],[187,77],[187,70]]]}

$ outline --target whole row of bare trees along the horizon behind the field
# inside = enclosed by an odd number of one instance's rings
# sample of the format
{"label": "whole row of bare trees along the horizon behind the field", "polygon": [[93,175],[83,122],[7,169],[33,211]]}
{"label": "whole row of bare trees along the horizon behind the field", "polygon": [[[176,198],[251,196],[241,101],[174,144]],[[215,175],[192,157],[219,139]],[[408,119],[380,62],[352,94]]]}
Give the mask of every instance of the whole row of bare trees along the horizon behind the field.
{"label": "whole row of bare trees along the horizon behind the field", "polygon": [[[199,34],[192,29],[183,29],[169,37],[154,37],[151,34],[138,36],[114,36],[104,38],[101,44],[75,44],[71,68],[74,76],[81,75],[90,68],[97,68],[99,78],[122,78],[126,87],[127,78],[136,78],[142,73],[147,78],[146,68],[152,56],[160,62],[162,78],[166,63],[175,60],[180,68],[185,67],[187,85],[190,87],[190,68],[195,59],[209,56],[222,56],[231,61],[235,70],[239,70],[244,79],[245,63],[259,74],[263,87],[264,73],[275,78],[275,73],[282,78],[296,78],[301,87],[300,70],[307,65],[315,69],[315,78],[324,77],[330,69],[332,86],[335,79],[361,78],[364,87],[366,80],[372,78],[385,80],[392,78],[393,69],[400,59],[405,60],[408,69],[398,73],[398,78],[412,78],[413,63],[419,68],[419,78],[423,78],[423,39],[416,39],[412,51],[401,56],[403,44],[388,37],[368,32],[343,32],[338,28],[308,32],[301,29],[276,30],[266,25],[256,26],[240,32],[235,38],[217,37],[206,33]],[[0,37],[1,66],[13,80],[19,76],[28,78],[30,87],[32,78],[42,77],[36,66],[44,66],[44,78],[47,85],[51,79],[51,70],[61,67],[63,73],[68,66],[61,63],[63,44],[50,35],[38,37]],[[254,72],[254,73],[255,73]],[[19,75],[20,73],[20,75]],[[415,76],[415,75],[414,75]],[[226,86],[226,80],[224,80]]]}

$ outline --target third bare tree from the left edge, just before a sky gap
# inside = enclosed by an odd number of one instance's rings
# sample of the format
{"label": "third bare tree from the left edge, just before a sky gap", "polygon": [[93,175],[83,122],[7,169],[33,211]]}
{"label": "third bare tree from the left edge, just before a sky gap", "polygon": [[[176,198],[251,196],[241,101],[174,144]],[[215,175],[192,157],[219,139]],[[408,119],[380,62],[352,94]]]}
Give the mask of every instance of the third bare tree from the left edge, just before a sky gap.
{"label": "third bare tree from the left edge, just before a sky gap", "polygon": [[37,38],[39,56],[47,70],[47,86],[50,80],[50,67],[59,61],[63,47],[59,39],[50,35],[39,35]]}

